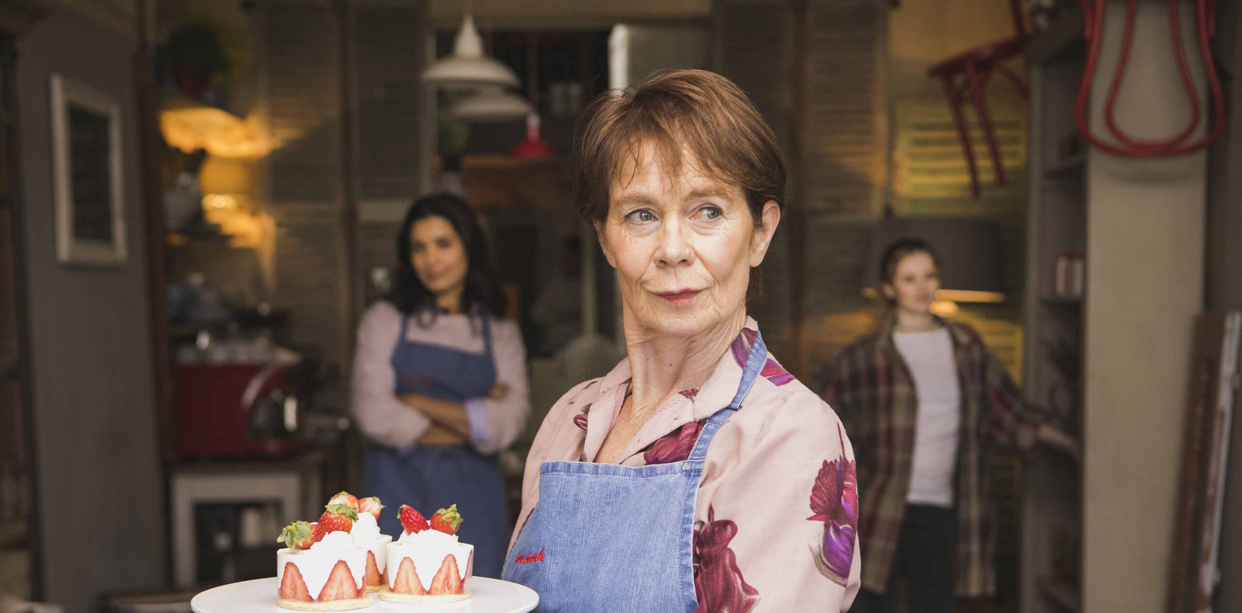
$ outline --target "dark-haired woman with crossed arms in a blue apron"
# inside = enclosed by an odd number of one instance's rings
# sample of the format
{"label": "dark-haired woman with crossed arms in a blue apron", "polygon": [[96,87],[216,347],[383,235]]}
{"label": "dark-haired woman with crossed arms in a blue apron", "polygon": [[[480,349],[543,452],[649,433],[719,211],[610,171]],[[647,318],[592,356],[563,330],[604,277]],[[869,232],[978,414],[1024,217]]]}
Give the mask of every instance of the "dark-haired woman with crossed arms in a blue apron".
{"label": "dark-haired woman with crossed arms in a blue apron", "polygon": [[[496,454],[530,412],[525,346],[469,206],[451,194],[410,206],[386,299],[358,326],[353,412],[369,444],[364,491],[424,514],[456,504],[474,573],[498,577],[509,522]],[[400,534],[397,514],[380,520]]]}

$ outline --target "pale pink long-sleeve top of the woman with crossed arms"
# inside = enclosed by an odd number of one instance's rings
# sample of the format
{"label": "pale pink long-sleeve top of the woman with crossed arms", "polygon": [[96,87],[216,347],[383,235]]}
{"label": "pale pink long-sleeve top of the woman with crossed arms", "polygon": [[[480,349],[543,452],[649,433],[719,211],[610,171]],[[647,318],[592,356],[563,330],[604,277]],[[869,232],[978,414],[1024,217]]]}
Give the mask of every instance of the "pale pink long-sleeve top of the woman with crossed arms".
{"label": "pale pink long-sleeve top of the woman with crossed arms", "polygon": [[[414,445],[431,426],[431,419],[396,397],[392,350],[401,334],[401,314],[392,303],[378,302],[363,313],[358,324],[358,347],[350,408],[366,437],[392,448]],[[518,438],[530,416],[530,385],[527,380],[527,349],[518,325],[492,319],[492,359],[496,382],[508,386],[502,400],[468,398],[463,405],[471,422],[471,444],[482,453],[496,453]],[[482,326],[477,318],[437,314],[430,325],[411,320],[406,339],[458,351],[484,352]]]}

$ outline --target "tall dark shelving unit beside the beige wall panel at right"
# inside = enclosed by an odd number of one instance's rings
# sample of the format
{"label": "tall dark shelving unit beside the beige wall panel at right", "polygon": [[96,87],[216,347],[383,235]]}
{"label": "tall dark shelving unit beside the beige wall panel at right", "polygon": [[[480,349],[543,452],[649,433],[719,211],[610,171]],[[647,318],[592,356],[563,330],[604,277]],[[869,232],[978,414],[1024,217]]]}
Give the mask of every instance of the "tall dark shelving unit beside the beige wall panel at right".
{"label": "tall dark shelving unit beside the beige wall panel at right", "polygon": [[[1033,34],[1023,50],[1031,87],[1028,138],[1031,140],[1027,207],[1027,278],[1031,300],[1025,313],[1031,339],[1026,344],[1023,393],[1027,402],[1056,402],[1056,423],[1078,441],[1083,436],[1087,381],[1069,385],[1081,376],[1086,355],[1084,295],[1057,295],[1057,258],[1067,253],[1089,253],[1086,222],[1090,202],[1087,185],[1097,171],[1086,148],[1072,149],[1077,133],[1074,107],[1087,61],[1083,42],[1083,14],[1062,10],[1047,29]],[[1083,285],[1083,294],[1087,287]],[[1056,400],[1053,400],[1056,398]],[[1052,417],[1052,413],[1048,413]],[[1057,555],[1081,558],[1079,537],[1066,540],[1066,531],[1083,525],[1082,455],[1061,447],[1038,444],[1031,454],[1030,489],[1023,501],[1020,609],[1026,613],[1079,613],[1081,588],[1073,581],[1058,581],[1042,552],[1056,542]],[[1074,527],[1079,526],[1079,527]]]}

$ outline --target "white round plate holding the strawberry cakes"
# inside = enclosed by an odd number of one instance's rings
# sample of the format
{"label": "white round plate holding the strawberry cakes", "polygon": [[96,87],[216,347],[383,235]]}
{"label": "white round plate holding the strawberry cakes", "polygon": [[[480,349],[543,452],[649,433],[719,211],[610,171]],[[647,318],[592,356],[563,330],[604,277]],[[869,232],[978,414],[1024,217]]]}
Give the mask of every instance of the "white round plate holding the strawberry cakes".
{"label": "white round plate holding the strawberry cakes", "polygon": [[[190,601],[194,613],[292,613],[276,606],[279,591],[276,577],[242,581],[214,587]],[[371,606],[354,609],[359,613],[527,613],[539,604],[534,589],[508,581],[487,577],[471,578],[471,597],[465,602],[445,604],[396,604],[371,594]]]}

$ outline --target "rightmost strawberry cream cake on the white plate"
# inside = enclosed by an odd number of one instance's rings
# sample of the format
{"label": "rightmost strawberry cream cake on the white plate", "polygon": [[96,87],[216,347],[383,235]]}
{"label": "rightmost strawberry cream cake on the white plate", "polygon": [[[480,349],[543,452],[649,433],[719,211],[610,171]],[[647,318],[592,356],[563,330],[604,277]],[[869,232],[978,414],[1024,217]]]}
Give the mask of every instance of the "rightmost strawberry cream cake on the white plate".
{"label": "rightmost strawberry cream cake on the white plate", "polygon": [[388,547],[388,588],[380,599],[397,603],[458,602],[469,598],[474,546],[457,541],[462,516],[457,505],[427,521],[401,505],[401,537]]}

